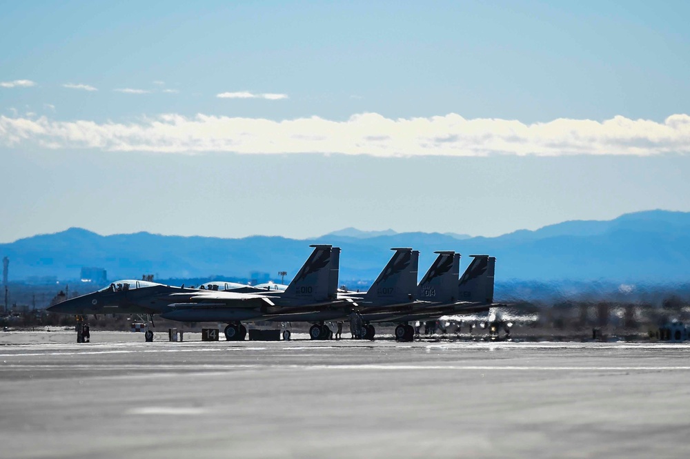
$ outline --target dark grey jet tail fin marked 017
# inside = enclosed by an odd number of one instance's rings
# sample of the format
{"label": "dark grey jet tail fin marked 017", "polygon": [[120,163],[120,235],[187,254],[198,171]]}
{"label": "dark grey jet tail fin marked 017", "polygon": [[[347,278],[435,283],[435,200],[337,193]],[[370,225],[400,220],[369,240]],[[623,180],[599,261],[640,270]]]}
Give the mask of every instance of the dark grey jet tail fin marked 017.
{"label": "dark grey jet tail fin marked 017", "polygon": [[391,248],[391,260],[364,295],[365,302],[375,304],[406,303],[417,293],[417,270],[420,251],[411,248]]}

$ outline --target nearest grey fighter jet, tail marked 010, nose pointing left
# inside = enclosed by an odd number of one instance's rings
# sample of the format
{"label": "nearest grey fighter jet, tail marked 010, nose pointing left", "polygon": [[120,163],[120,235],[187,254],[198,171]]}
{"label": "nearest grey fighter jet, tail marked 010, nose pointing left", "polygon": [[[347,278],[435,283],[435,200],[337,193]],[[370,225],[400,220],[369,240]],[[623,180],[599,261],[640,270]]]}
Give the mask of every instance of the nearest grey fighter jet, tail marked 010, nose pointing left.
{"label": "nearest grey fighter jet, tail marked 010, nose pointing left", "polygon": [[339,302],[340,249],[330,245],[311,247],[313,253],[285,291],[238,293],[123,280],[51,306],[48,311],[73,315],[136,313],[180,322],[225,322],[228,340],[244,340],[246,327],[242,321],[280,320],[283,314]]}

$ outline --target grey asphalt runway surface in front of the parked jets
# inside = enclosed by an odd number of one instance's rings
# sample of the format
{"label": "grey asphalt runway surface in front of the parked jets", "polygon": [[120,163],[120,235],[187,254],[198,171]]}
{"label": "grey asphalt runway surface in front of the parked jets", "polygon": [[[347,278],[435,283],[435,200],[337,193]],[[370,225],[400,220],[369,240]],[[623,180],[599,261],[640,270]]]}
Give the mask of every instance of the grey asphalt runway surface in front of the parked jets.
{"label": "grey asphalt runway surface in front of the parked jets", "polygon": [[0,333],[0,457],[690,453],[687,344],[70,338]]}

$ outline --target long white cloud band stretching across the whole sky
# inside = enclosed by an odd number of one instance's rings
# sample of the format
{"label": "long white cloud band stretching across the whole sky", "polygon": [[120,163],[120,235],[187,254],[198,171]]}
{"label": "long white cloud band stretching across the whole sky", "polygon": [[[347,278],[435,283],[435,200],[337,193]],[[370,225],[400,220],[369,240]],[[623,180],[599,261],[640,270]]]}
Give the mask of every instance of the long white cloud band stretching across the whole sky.
{"label": "long white cloud band stretching across the whole sky", "polygon": [[380,157],[487,155],[690,154],[690,115],[663,122],[614,117],[524,124],[450,114],[390,119],[376,113],[346,121],[160,115],[132,123],[55,121],[0,115],[0,144],[47,148],[197,153],[344,153]]}

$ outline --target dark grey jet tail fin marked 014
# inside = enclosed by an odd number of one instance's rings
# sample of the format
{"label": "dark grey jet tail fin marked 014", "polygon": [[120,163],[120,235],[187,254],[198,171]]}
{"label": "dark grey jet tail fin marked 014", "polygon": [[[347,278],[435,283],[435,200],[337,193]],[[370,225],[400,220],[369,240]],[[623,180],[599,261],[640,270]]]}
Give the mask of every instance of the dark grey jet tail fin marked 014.
{"label": "dark grey jet tail fin marked 014", "polygon": [[437,251],[438,257],[426,271],[417,288],[423,301],[452,303],[457,301],[457,277],[460,275],[460,253]]}

